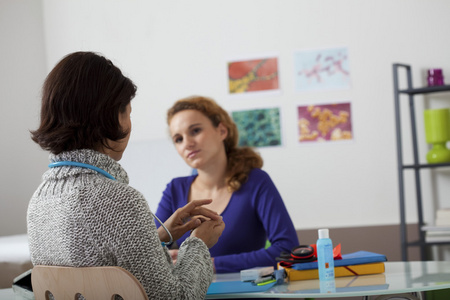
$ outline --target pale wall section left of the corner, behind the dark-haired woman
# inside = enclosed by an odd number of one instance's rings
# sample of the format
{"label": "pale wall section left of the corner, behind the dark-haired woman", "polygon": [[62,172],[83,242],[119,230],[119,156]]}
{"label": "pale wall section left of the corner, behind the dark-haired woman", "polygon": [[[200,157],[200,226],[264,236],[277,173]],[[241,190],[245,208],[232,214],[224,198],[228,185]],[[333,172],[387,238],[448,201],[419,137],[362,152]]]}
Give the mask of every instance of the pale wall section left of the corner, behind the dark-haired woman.
{"label": "pale wall section left of the corner, behind the dark-haired woman", "polygon": [[42,3],[0,0],[0,235],[26,232],[26,209],[48,164],[30,139],[46,75]]}

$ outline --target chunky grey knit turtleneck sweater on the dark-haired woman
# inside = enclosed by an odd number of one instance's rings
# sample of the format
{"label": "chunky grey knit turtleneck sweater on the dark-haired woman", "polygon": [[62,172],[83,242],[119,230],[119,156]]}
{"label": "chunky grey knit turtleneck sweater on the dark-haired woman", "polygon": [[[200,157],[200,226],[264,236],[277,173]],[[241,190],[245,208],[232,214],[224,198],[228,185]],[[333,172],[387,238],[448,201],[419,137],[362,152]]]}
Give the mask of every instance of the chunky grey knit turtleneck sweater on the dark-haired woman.
{"label": "chunky grey knit turtleneck sweater on the dark-haired woman", "polygon": [[44,173],[28,207],[34,265],[120,266],[141,282],[149,299],[205,297],[213,277],[205,243],[186,239],[173,265],[146,200],[128,185],[120,164],[86,149],[50,155],[50,160],[87,163],[117,181],[71,166]]}

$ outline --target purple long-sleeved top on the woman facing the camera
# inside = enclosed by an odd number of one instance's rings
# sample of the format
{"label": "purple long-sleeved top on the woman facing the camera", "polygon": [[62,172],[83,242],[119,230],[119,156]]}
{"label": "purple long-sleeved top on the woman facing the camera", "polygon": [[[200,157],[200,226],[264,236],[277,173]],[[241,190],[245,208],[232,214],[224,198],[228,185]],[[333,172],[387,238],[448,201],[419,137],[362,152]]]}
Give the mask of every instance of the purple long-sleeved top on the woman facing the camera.
{"label": "purple long-sleeved top on the woman facing the camera", "polygon": [[[187,204],[196,176],[175,178],[167,185],[156,211],[162,222]],[[299,245],[283,200],[269,175],[261,169],[253,169],[247,182],[231,195],[222,217],[225,230],[210,249],[217,273],[239,272],[257,266],[275,267],[275,257]],[[177,244],[189,234],[181,237]],[[264,249],[267,239],[271,246]]]}

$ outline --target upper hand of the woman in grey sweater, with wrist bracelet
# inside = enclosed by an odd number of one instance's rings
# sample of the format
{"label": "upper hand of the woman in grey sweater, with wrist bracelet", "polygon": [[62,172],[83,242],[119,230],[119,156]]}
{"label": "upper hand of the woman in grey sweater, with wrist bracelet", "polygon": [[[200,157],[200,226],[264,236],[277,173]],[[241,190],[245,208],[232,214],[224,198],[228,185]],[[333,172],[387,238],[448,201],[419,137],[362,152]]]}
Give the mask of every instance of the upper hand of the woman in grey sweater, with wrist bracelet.
{"label": "upper hand of the woman in grey sweater, with wrist bracelet", "polygon": [[[185,206],[177,209],[164,225],[172,234],[173,240],[176,241],[182,237],[189,230],[197,228],[202,222],[207,220],[218,221],[222,220],[216,212],[202,207],[203,205],[211,203],[211,199],[194,200]],[[164,242],[169,241],[169,235],[162,226],[158,228],[159,239]]]}

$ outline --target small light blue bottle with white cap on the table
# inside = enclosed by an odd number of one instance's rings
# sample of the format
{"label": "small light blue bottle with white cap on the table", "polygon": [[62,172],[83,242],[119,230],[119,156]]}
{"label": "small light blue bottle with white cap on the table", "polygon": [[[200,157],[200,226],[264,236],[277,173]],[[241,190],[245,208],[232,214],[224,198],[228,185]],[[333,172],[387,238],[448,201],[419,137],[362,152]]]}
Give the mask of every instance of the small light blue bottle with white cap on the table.
{"label": "small light blue bottle with white cap on the table", "polygon": [[320,281],[334,281],[333,243],[329,237],[328,229],[319,229],[316,248]]}

